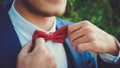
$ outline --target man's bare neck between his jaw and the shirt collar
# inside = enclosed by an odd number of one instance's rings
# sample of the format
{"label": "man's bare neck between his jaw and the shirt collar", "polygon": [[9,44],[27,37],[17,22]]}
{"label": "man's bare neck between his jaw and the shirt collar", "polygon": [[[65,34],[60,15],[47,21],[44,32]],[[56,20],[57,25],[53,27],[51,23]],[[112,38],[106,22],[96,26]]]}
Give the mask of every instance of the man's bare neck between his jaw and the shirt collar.
{"label": "man's bare neck between his jaw and the shirt collar", "polygon": [[45,31],[49,31],[54,24],[55,17],[43,17],[29,12],[20,2],[15,2],[16,11],[28,20],[30,23],[42,28]]}

